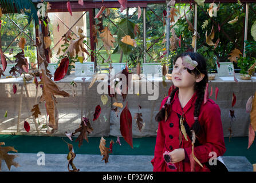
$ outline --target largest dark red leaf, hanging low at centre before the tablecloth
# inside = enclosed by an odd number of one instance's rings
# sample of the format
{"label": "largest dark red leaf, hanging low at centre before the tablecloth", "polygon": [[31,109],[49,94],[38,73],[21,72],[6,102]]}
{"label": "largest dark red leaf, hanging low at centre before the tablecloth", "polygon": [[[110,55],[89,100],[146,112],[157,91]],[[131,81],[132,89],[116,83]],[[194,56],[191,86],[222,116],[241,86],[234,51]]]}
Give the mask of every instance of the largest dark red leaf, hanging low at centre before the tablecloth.
{"label": "largest dark red leaf, hanging low at centre before the tablecloth", "polygon": [[132,145],[132,114],[127,107],[122,110],[120,115],[120,132],[124,140],[133,148]]}

